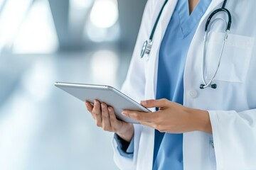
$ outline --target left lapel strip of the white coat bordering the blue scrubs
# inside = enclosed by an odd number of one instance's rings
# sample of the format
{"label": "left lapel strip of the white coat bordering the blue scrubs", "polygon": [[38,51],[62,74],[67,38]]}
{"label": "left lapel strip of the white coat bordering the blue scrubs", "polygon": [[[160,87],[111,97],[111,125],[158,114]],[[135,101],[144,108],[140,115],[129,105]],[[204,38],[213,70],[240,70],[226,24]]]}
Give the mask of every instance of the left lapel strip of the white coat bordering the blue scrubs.
{"label": "left lapel strip of the white coat bordering the blue scrubs", "polygon": [[[161,45],[161,40],[164,37],[164,33],[168,23],[170,21],[171,15],[174,12],[177,0],[169,1],[161,18],[159,19],[159,24],[156,27],[156,31],[153,39],[153,46],[149,55],[149,60],[146,62],[146,99],[151,99],[156,97],[156,79],[157,79],[157,67],[158,67],[158,56],[159,47]],[[163,1],[164,3],[164,1]],[[163,3],[158,3],[163,5]],[[154,13],[153,19],[156,19],[161,7],[158,11]],[[154,20],[155,21],[155,20]],[[153,23],[154,24],[154,23]],[[154,109],[152,109],[154,111]],[[152,169],[153,154],[154,154],[154,129],[148,128],[146,126],[142,127],[142,135],[140,138],[140,149],[143,152],[138,155],[138,165],[137,169]]]}

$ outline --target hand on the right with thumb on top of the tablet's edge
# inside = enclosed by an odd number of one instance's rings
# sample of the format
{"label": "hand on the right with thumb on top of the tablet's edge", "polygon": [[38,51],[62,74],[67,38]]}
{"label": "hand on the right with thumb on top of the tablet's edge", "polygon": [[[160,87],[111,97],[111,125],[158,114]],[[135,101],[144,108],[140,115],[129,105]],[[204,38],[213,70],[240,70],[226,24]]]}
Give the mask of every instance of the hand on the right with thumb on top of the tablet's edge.
{"label": "hand on the right with thumb on top of the tablet's edge", "polygon": [[122,114],[160,132],[183,133],[199,130],[212,133],[208,111],[186,108],[166,99],[142,101],[141,104],[146,108],[159,108],[159,111],[123,111]]}

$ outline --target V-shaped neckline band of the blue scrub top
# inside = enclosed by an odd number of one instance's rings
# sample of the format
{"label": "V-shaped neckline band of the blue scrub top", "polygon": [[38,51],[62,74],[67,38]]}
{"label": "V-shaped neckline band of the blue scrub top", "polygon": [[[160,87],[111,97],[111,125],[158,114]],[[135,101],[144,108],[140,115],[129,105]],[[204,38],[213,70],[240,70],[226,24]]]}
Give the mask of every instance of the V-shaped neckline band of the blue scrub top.
{"label": "V-shaped neckline band of the blue scrub top", "polygon": [[199,1],[196,7],[193,9],[191,15],[189,15],[188,0],[178,0],[176,8],[184,37],[191,33],[193,28],[195,28],[195,26],[199,23],[198,20],[202,18],[210,2],[211,0]]}

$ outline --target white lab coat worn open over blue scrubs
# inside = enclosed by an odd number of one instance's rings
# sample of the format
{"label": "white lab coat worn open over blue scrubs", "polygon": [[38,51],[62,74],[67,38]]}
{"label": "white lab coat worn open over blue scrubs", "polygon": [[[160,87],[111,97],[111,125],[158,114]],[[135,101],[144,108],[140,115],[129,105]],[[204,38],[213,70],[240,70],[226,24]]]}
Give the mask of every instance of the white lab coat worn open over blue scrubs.
{"label": "white lab coat worn open over blue scrubs", "polygon": [[[149,0],[144,10],[134,54],[122,91],[137,101],[155,98],[161,40],[176,6],[169,0],[159,20],[149,59],[140,58],[164,0]],[[203,36],[206,19],[223,0],[212,0],[191,42],[184,72],[184,106],[207,110],[213,135],[186,132],[183,135],[185,170],[256,169],[256,1],[229,0],[233,23],[214,83],[217,89],[199,89],[202,81]],[[225,15],[218,14],[225,18]],[[207,79],[215,71],[223,45],[223,24],[216,22],[207,49]],[[160,79],[164,79],[160,77]],[[121,157],[113,140],[114,162],[120,169],[151,169],[154,129],[134,125],[134,157]]]}

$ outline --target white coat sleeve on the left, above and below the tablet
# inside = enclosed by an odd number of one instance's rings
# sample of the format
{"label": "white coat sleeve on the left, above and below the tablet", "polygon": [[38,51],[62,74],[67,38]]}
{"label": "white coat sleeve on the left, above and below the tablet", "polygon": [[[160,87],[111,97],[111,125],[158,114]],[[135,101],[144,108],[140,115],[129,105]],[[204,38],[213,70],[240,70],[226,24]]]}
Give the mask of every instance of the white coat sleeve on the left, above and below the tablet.
{"label": "white coat sleeve on the left, above and below the tablet", "polygon": [[[140,57],[140,52],[144,40],[149,39],[149,34],[151,32],[151,17],[155,8],[155,0],[149,0],[144,8],[144,13],[142,17],[142,23],[139,28],[139,35],[137,38],[136,45],[134,47],[134,52],[132,55],[132,60],[129,65],[129,70],[127,72],[127,77],[122,85],[122,93],[134,99],[134,101],[140,102],[144,100],[144,86],[145,86],[145,65],[144,60]],[[137,155],[139,149],[139,139],[141,133],[141,125],[134,125],[134,157],[128,159],[122,157],[117,150],[117,143],[113,140],[114,147],[114,162],[117,164],[119,169],[136,169],[137,166]]]}

